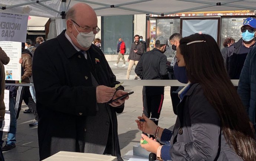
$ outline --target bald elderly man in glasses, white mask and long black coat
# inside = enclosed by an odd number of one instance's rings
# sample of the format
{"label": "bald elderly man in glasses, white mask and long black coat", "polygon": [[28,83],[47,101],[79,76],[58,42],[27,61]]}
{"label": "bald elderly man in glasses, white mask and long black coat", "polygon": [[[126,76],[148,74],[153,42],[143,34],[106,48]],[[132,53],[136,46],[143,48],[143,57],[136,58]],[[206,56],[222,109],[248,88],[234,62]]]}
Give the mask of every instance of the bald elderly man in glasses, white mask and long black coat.
{"label": "bald elderly man in glasses, white mask and long black coat", "polygon": [[[37,47],[33,79],[39,114],[40,160],[59,151],[110,154],[121,161],[116,113],[128,97],[101,49],[92,44],[95,11],[77,3],[66,13],[67,30]],[[49,112],[50,111],[50,112]]]}

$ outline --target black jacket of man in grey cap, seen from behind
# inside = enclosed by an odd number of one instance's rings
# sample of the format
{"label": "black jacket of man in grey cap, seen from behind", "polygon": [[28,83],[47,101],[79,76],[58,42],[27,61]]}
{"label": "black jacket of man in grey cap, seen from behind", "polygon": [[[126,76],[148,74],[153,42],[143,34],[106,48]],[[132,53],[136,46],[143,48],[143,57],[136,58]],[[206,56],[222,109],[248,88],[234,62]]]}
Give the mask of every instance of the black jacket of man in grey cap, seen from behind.
{"label": "black jacket of man in grey cap, seen from behind", "polygon": [[[167,57],[157,48],[144,53],[135,67],[142,80],[168,80]],[[143,95],[164,94],[164,86],[143,86]]]}

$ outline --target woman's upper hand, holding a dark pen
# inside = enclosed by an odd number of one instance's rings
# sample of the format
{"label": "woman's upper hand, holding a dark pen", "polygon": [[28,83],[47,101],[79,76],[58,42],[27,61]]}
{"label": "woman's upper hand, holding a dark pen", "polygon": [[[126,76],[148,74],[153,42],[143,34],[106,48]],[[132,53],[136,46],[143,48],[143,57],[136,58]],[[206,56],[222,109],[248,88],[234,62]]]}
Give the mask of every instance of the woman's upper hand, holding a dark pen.
{"label": "woman's upper hand, holding a dark pen", "polygon": [[147,134],[151,134],[151,135],[155,134],[155,131],[157,130],[157,125],[152,120],[147,118],[144,114],[142,114],[142,117],[138,116],[138,119],[145,120],[145,121],[135,120],[139,130]]}

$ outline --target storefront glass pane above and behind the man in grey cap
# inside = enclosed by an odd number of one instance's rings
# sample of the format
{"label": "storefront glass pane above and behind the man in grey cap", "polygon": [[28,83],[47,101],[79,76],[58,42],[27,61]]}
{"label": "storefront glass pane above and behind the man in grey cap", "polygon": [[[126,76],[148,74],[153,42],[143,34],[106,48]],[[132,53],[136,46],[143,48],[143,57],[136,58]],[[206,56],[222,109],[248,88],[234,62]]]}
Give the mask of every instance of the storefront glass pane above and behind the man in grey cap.
{"label": "storefront glass pane above and behind the man in grey cap", "polygon": [[[169,40],[170,36],[174,33],[180,33],[180,19],[157,19],[157,37],[164,36]],[[166,48],[165,55],[167,58],[174,56],[174,51],[169,47]]]}

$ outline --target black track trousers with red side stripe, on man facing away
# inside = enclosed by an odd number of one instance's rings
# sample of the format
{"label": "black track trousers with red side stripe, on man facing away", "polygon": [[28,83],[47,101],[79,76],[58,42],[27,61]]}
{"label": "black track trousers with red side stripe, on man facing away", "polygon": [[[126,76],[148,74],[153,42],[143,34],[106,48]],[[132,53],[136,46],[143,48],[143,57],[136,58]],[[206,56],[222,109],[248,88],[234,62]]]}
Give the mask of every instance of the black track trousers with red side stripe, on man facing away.
{"label": "black track trousers with red side stripe, on man facing away", "polygon": [[[158,95],[143,95],[143,113],[148,118],[159,118],[160,113],[163,107],[164,94]],[[158,121],[154,121],[156,125],[158,125]],[[147,135],[146,133],[143,133]],[[154,138],[153,135],[150,137]]]}

